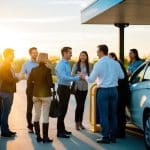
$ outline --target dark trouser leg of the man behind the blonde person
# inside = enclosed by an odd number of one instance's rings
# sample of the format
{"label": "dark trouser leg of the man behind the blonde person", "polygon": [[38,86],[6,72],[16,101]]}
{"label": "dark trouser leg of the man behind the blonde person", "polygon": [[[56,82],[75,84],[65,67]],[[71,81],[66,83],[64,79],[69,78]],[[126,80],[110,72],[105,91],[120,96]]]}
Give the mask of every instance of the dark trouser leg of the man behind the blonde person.
{"label": "dark trouser leg of the man behind the blonde person", "polygon": [[26,95],[27,95],[27,112],[26,112],[26,119],[28,123],[28,128],[32,128],[32,110],[33,110],[33,89],[27,88]]}

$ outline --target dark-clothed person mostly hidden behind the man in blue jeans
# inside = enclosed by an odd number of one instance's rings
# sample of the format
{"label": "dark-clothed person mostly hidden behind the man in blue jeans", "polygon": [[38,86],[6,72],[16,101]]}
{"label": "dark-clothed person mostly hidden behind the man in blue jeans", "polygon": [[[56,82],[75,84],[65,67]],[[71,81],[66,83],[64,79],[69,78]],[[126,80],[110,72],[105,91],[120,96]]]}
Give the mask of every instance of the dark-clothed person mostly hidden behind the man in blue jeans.
{"label": "dark-clothed person mostly hidden behind the man in blue jeans", "polygon": [[124,138],[125,137],[125,125],[126,125],[126,115],[125,115],[125,107],[130,98],[130,90],[128,84],[128,75],[123,64],[118,60],[115,53],[109,53],[109,57],[119,62],[122,71],[124,72],[124,79],[120,79],[118,81],[118,130],[117,137]]}

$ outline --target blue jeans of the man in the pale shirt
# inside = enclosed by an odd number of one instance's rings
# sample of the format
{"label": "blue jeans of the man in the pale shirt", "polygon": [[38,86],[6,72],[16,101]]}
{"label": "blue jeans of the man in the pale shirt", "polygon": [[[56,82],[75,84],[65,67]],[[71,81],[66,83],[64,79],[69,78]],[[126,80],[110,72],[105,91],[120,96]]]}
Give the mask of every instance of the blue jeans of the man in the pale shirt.
{"label": "blue jeans of the man in the pale shirt", "polygon": [[118,90],[100,88],[97,91],[97,105],[103,137],[116,136]]}

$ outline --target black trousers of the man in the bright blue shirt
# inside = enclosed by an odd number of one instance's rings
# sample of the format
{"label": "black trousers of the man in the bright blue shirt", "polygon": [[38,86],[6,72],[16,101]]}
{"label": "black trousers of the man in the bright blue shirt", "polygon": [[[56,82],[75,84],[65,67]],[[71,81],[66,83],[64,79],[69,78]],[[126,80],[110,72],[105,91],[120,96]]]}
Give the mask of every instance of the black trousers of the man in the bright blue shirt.
{"label": "black trousers of the man in the bright blue shirt", "polygon": [[70,87],[64,85],[58,85],[57,93],[59,96],[59,111],[60,116],[57,120],[57,133],[63,133],[65,130],[64,119],[68,109],[68,103],[70,99]]}

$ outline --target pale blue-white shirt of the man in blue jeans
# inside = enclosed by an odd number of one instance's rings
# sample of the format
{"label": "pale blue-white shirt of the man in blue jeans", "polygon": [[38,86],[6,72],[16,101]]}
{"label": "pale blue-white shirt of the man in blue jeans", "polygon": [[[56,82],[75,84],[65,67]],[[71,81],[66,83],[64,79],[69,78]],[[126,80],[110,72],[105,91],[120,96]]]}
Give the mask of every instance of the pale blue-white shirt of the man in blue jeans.
{"label": "pale blue-white shirt of the man in blue jeans", "polygon": [[85,79],[92,83],[97,82],[97,87],[109,88],[118,86],[118,80],[124,78],[124,73],[120,64],[109,58],[108,56],[102,57],[95,65],[90,74]]}

